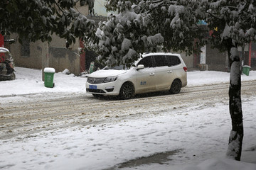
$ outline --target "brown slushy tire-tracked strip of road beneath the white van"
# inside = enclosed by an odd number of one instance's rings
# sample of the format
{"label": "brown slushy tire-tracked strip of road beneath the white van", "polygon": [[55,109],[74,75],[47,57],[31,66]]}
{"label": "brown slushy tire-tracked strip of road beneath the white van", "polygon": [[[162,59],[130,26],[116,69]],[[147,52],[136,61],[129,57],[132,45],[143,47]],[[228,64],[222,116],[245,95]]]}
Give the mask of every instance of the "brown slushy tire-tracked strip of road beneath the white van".
{"label": "brown slushy tire-tracked strip of road beneath the white van", "polygon": [[[256,81],[242,82],[242,97],[255,96]],[[97,99],[93,96],[60,95],[59,98],[34,98],[31,102],[0,105],[0,139],[31,135],[75,125],[95,125],[154,116],[164,111],[191,106],[206,107],[218,102],[228,103],[229,84],[188,86],[180,94],[138,95],[127,101]],[[41,96],[41,94],[39,95]]]}

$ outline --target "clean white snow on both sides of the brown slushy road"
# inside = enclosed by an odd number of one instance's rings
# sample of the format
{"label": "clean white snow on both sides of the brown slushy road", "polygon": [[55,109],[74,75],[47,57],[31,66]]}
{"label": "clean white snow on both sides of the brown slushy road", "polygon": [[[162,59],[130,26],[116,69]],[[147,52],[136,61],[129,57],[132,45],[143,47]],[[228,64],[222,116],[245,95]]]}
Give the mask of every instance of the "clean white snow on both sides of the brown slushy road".
{"label": "clean white snow on both sides of the brown slushy road", "polygon": [[[16,80],[0,81],[0,96],[23,94],[84,93],[85,77],[55,73],[54,88],[46,88],[41,70],[16,67]],[[256,79],[256,72],[242,75],[242,81]],[[188,86],[228,83],[225,72],[188,72]],[[5,87],[5,88],[3,88]],[[89,94],[88,94],[89,95]],[[6,97],[5,97],[6,98]],[[18,96],[10,100],[18,101]],[[245,137],[242,162],[225,159],[230,131],[227,103],[176,109],[154,118],[142,118],[105,125],[78,126],[42,131],[0,140],[0,169],[134,169],[123,162],[144,155],[166,152],[163,164],[142,164],[137,169],[224,170],[256,169],[256,97],[243,98]],[[0,99],[0,105],[5,103]],[[213,121],[214,120],[214,121]],[[171,139],[171,140],[170,140]],[[177,142],[178,141],[178,142]],[[182,153],[182,154],[178,154]],[[171,159],[171,160],[170,160]],[[127,162],[127,164],[129,164]],[[250,162],[250,163],[248,163]]]}

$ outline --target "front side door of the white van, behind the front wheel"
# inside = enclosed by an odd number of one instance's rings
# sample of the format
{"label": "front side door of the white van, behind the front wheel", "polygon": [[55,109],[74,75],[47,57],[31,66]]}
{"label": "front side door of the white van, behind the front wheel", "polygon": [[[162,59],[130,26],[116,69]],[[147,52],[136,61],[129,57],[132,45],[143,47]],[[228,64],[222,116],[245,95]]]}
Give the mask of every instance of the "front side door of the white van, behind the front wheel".
{"label": "front side door of the white van, behind the front wheel", "polygon": [[155,69],[151,56],[144,57],[138,62],[137,66],[139,64],[143,64],[144,69],[136,71],[136,93],[155,91]]}

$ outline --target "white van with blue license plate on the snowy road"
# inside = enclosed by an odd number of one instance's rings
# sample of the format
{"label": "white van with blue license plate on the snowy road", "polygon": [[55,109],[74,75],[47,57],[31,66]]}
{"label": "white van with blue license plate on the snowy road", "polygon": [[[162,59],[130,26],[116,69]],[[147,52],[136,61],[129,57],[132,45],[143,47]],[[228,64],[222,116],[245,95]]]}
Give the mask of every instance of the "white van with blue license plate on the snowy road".
{"label": "white van with blue license plate on the snowy road", "polygon": [[170,91],[178,94],[187,85],[187,67],[181,55],[148,53],[142,55],[134,66],[98,70],[89,74],[86,91],[93,96],[119,96],[132,98],[135,94]]}

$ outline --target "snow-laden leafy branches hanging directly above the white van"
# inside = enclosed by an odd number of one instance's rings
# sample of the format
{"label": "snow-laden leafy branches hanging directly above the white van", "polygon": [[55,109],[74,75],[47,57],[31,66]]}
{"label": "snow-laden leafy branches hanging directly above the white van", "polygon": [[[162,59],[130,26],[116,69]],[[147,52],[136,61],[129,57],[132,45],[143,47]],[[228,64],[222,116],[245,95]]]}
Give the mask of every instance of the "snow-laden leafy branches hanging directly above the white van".
{"label": "snow-laden leafy branches hanging directly above the white van", "polygon": [[109,1],[107,6],[119,13],[100,23],[96,38],[87,47],[100,55],[102,63],[128,67],[139,53],[156,52],[159,47],[191,54],[198,49],[194,47],[196,38],[198,47],[205,43],[207,30],[197,25],[203,18],[200,5],[198,1]]}

